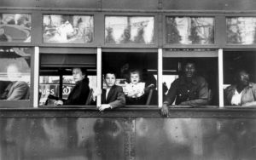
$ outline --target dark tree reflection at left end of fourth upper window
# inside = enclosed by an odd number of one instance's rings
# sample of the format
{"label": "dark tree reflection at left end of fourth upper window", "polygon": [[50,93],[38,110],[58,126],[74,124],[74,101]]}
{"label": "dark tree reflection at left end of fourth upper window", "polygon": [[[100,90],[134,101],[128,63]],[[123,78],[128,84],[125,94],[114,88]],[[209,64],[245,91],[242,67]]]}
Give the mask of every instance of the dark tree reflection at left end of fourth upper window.
{"label": "dark tree reflection at left end of fourth upper window", "polygon": [[181,36],[177,30],[177,23],[175,18],[167,19],[167,43],[180,43]]}

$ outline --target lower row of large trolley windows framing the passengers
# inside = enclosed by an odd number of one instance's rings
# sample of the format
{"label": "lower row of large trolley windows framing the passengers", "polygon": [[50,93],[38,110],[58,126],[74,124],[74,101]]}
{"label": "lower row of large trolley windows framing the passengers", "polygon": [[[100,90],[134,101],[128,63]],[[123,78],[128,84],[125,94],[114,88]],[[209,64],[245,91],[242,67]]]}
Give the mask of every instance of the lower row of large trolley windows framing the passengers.
{"label": "lower row of large trolley windows framing the passengers", "polygon": [[[224,50],[223,69],[218,68],[218,51],[171,50],[162,57],[163,102],[177,106],[219,106],[218,71],[224,73],[224,105],[255,106],[256,53],[251,50]],[[212,56],[205,56],[208,52]],[[215,52],[215,54],[214,54]],[[188,56],[194,54],[194,56]],[[205,54],[205,55],[203,55]],[[32,100],[32,56],[34,48],[0,49],[0,97],[7,100]],[[180,55],[180,56],[179,56]],[[201,56],[202,55],[202,56]],[[39,106],[96,105],[96,54],[45,54],[39,59]],[[107,89],[104,73],[114,73],[114,83],[125,94],[126,106],[157,106],[158,53],[102,52],[102,89]],[[188,67],[188,64],[192,64]],[[77,86],[81,71],[84,86]],[[193,75],[192,78],[189,76]],[[195,78],[196,77],[196,78]],[[82,79],[83,79],[82,78]],[[87,89],[84,94],[84,90]],[[74,92],[79,90],[79,92]],[[84,97],[79,97],[83,94]],[[102,99],[108,99],[108,94]],[[70,99],[79,100],[70,100]],[[171,100],[172,99],[172,100]],[[207,103],[183,101],[196,99]],[[58,101],[62,103],[58,103]],[[67,102],[69,100],[69,102]]]}

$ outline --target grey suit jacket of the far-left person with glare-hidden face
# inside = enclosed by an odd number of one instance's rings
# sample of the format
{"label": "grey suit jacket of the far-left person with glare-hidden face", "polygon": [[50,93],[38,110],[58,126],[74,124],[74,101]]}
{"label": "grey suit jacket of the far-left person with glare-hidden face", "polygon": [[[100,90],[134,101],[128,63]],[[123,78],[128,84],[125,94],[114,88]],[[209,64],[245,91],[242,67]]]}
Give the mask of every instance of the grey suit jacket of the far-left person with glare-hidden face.
{"label": "grey suit jacket of the far-left person with glare-hidden face", "polygon": [[9,83],[9,90],[6,100],[26,100],[28,99],[29,87],[24,81]]}

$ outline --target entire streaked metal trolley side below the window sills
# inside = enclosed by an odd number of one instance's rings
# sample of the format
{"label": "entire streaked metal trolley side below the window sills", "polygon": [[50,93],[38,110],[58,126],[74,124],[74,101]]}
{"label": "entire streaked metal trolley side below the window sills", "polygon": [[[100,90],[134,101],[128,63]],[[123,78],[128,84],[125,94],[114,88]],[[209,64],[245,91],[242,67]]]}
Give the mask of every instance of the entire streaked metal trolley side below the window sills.
{"label": "entire streaked metal trolley side below the window sills", "polygon": [[0,159],[254,160],[254,112],[177,109],[160,117],[145,108],[1,109]]}

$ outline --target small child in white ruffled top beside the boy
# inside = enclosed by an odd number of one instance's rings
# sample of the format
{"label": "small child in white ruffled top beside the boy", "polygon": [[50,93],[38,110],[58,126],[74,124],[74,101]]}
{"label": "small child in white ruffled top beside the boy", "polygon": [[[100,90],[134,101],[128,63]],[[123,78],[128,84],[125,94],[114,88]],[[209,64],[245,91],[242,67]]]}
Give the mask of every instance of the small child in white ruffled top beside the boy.
{"label": "small child in white ruffled top beside the boy", "polygon": [[145,83],[141,82],[141,74],[138,70],[130,71],[130,82],[125,85],[126,104],[145,105],[148,91],[154,88],[154,84],[145,88]]}

